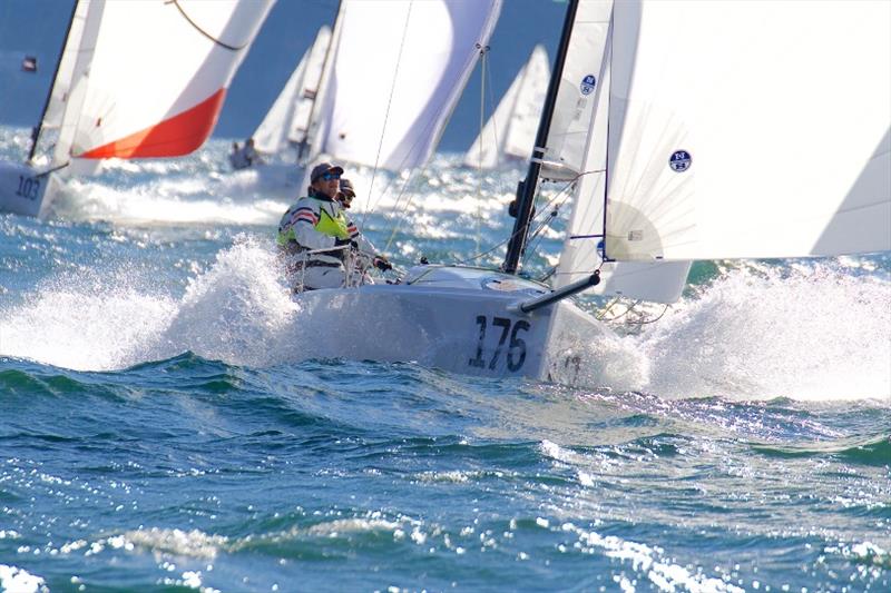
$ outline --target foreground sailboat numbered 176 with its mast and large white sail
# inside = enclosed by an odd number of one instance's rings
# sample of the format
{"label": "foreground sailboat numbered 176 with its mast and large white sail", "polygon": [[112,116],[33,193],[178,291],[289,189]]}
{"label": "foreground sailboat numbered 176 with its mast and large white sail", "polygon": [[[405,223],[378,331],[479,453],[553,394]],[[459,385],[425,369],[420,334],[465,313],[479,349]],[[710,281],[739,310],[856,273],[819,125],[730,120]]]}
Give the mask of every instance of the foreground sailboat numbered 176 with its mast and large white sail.
{"label": "foreground sailboat numbered 176 with its mast and large white sail", "polygon": [[[596,254],[576,260],[581,278],[552,290],[516,274],[533,187],[554,164],[572,28],[590,6],[570,0],[502,269],[419,265],[395,285],[298,295],[329,335],[349,336],[317,355],[560,380],[574,345],[611,336],[568,300],[599,284],[603,261],[891,249],[891,4],[820,2],[806,16],[797,2],[597,4],[599,68],[576,79],[597,106],[577,177],[595,182],[576,199],[603,213],[576,239]],[[560,165],[548,167],[571,169]]]}

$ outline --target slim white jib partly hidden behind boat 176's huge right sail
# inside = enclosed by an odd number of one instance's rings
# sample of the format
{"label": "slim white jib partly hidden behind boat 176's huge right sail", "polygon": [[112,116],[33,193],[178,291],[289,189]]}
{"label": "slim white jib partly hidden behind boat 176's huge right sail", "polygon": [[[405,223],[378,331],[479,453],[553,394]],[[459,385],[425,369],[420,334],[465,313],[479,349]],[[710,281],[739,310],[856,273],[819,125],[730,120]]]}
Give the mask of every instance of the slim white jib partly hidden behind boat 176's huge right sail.
{"label": "slim white jib partly hidden behind boat 176's huge right sail", "polygon": [[608,50],[598,71],[595,115],[587,132],[588,145],[576,181],[572,214],[554,287],[562,288],[600,269],[600,284],[589,289],[599,295],[621,295],[652,303],[674,303],[681,298],[689,273],[689,261],[604,263],[604,199],[606,191],[606,141],[610,71]]}

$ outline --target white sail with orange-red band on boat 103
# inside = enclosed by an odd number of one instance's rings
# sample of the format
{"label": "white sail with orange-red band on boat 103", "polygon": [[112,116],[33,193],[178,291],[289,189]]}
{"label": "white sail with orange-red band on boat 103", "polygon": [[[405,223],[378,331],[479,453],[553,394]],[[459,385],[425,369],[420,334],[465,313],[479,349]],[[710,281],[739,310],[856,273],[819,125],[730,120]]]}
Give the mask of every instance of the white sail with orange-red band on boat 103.
{"label": "white sail with orange-red band on boat 103", "polygon": [[75,73],[60,135],[70,145],[59,142],[57,159],[169,157],[198,148],[271,8],[272,0],[90,2],[95,42],[85,32],[79,61],[88,63]]}

